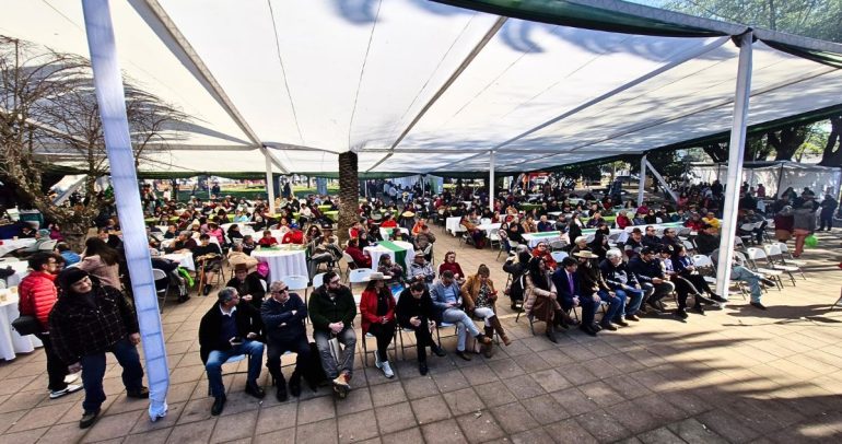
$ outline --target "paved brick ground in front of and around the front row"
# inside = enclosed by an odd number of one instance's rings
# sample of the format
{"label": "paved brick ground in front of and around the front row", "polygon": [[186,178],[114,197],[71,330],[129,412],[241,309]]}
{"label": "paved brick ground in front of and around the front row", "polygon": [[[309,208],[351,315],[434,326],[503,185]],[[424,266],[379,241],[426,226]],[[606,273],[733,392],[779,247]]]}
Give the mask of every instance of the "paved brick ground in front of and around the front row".
{"label": "paved brick ground in front of and around the front row", "polygon": [[[358,359],[354,389],[342,401],[321,388],[279,404],[266,372],[270,394],[258,401],[243,393],[244,375],[230,375],[220,417],[210,416],[197,341],[214,297],[194,297],[167,305],[163,316],[172,367],[166,418],[151,423],[144,401],[126,399],[110,359],[103,418],[79,430],[83,394],[49,400],[44,353],[36,351],[0,364],[0,443],[837,442],[842,309],[828,307],[840,295],[840,239],[820,238],[829,249],[806,254],[808,280],[770,291],[767,312],[738,299],[686,324],[646,318],[598,338],[562,334],[556,346],[540,335],[543,326],[533,337],[524,319],[515,323],[504,303],[500,312],[515,341],[492,359],[433,357],[421,377],[414,350],[407,350],[390,381]],[[466,272],[490,265],[503,287],[495,252],[457,246],[442,234],[440,260],[447,249]],[[454,338],[445,343],[454,349]],[[245,361],[234,366],[225,370],[245,370]]]}

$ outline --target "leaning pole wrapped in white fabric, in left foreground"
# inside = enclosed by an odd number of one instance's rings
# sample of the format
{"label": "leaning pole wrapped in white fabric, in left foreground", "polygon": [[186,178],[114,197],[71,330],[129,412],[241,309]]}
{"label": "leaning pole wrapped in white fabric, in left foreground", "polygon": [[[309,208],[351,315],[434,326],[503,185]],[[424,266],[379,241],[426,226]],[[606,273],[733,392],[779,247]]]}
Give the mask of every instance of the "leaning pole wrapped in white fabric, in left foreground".
{"label": "leaning pole wrapped in white fabric, in left foreground", "polygon": [[[129,122],[126,116],[126,93],[122,73],[114,40],[110,8],[107,0],[82,2],[85,34],[91,51],[96,102],[108,162],[112,170],[117,215],[122,230],[126,262],[131,276],[135,309],[140,326],[141,344],[149,381],[149,418],[152,421],[166,416],[166,393],[169,388],[169,370],[166,343],[161,328],[157,292],[152,276],[143,210],[140,208],[138,174],[131,151]],[[133,346],[132,346],[133,347]]]}

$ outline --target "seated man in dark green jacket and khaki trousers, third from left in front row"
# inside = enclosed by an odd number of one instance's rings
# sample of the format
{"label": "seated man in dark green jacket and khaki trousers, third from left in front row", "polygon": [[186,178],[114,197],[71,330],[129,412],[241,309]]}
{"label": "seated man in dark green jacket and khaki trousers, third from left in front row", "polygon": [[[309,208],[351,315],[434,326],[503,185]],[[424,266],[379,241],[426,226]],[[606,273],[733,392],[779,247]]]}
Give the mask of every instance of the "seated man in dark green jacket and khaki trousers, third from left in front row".
{"label": "seated man in dark green jacket and khaki trousers, third from left in front row", "polygon": [[[334,390],[343,398],[351,389],[349,383],[353,376],[356,349],[353,328],[356,304],[351,290],[342,285],[336,271],[328,271],[324,276],[321,287],[314,290],[309,296],[307,308],[309,320],[313,323],[313,339],[321,358],[321,367],[328,379],[331,379]],[[331,338],[337,338],[344,346],[341,357],[334,357],[330,351]]]}

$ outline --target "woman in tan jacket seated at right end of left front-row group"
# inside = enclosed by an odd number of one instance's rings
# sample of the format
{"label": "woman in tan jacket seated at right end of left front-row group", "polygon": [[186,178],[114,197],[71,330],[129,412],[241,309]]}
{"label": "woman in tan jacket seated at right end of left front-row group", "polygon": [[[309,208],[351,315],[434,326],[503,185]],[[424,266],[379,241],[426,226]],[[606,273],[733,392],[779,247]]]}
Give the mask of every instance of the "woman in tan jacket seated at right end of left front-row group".
{"label": "woman in tan jacket seated at right end of left front-row group", "polygon": [[[496,316],[496,308],[494,304],[498,300],[498,291],[494,290],[494,282],[489,278],[491,270],[481,264],[477,273],[468,277],[465,283],[461,285],[461,296],[465,301],[465,307],[468,313],[473,312],[475,317],[481,318],[486,324],[486,336],[489,338],[494,337],[494,331],[500,335],[500,339],[506,346],[512,343],[512,340],[506,336],[503,326],[500,324],[500,319]],[[491,358],[494,354],[494,344],[489,343],[482,346],[482,352],[486,358]]]}

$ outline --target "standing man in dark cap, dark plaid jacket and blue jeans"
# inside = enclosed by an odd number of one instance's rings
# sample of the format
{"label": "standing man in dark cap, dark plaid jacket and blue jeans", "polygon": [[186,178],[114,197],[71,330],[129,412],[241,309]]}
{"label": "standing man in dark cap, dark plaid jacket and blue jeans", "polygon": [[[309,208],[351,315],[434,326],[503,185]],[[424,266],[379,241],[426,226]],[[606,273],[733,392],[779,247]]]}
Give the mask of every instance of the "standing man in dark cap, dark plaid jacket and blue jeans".
{"label": "standing man in dark cap, dark plaid jacket and blue jeans", "polygon": [[52,350],[70,373],[82,370],[85,399],[81,429],[91,427],[105,401],[105,353],[110,352],[122,366],[122,384],[129,398],[149,398],[143,386],[143,367],[136,346],[140,332],[135,309],[113,287],[100,285],[80,268],[68,268],[56,278],[61,289],[49,315]]}

